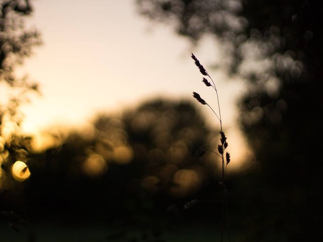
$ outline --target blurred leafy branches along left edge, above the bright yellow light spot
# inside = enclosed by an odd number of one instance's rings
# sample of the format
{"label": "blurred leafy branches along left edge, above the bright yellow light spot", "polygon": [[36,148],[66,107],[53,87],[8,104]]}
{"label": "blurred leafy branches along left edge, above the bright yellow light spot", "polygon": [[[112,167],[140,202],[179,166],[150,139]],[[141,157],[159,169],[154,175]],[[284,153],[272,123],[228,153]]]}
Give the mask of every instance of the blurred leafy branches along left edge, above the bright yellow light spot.
{"label": "blurred leafy branches along left edge, above the bright yellow light spot", "polygon": [[[0,165],[1,172],[8,172],[12,162],[27,160],[24,143],[26,137],[17,136],[23,115],[19,112],[21,102],[27,101],[27,92],[37,91],[37,84],[28,78],[17,77],[15,68],[23,63],[24,57],[31,54],[34,46],[41,43],[36,30],[27,30],[24,18],[32,12],[28,0],[0,1],[0,84],[2,99],[0,100]],[[7,92],[12,91],[8,94]],[[4,168],[4,170],[3,170]],[[1,179],[3,181],[3,178]],[[11,181],[12,183],[12,181]],[[0,187],[3,182],[0,183]]]}

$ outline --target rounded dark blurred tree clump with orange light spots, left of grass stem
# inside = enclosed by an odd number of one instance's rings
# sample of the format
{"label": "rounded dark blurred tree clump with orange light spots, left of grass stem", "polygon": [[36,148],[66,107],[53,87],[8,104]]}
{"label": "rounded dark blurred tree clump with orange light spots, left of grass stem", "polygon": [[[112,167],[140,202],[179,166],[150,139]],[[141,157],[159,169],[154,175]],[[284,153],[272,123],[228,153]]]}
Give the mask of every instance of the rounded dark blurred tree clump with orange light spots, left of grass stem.
{"label": "rounded dark blurred tree clump with orange light spots, left of grass stem", "polygon": [[[205,127],[189,102],[149,101],[121,117],[100,115],[93,126],[90,134],[72,132],[61,146],[33,155],[32,194],[43,196],[45,191],[36,191],[46,190],[59,196],[50,199],[55,203],[60,196],[79,200],[100,191],[104,199],[142,194],[182,199],[195,195],[217,173],[214,156],[202,162],[193,155],[209,148],[218,134]],[[85,180],[91,191],[80,186]]]}

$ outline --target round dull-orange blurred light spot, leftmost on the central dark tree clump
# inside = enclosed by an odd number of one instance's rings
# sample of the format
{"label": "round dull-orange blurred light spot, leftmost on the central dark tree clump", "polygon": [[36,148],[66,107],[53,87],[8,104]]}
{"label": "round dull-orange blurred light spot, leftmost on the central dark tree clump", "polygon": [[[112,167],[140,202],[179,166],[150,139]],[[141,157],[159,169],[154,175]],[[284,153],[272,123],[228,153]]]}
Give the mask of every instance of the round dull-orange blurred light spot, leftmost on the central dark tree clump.
{"label": "round dull-orange blurred light spot, leftmost on the central dark tree clump", "polygon": [[101,176],[107,170],[107,164],[102,156],[94,153],[84,161],[82,168],[89,176]]}

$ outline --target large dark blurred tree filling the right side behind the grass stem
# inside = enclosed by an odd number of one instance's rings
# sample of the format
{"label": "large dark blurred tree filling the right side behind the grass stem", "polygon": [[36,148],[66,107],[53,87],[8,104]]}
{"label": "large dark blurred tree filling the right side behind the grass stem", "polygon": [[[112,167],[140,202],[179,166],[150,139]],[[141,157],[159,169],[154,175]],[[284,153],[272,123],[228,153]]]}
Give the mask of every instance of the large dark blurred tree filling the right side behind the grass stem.
{"label": "large dark blurred tree filling the right side behind the grass stem", "polygon": [[240,124],[261,171],[246,239],[313,237],[322,189],[317,136],[323,18],[318,3],[137,0],[137,6],[143,16],[173,24],[193,42],[204,34],[216,36],[224,50],[219,66],[249,83],[239,103]]}

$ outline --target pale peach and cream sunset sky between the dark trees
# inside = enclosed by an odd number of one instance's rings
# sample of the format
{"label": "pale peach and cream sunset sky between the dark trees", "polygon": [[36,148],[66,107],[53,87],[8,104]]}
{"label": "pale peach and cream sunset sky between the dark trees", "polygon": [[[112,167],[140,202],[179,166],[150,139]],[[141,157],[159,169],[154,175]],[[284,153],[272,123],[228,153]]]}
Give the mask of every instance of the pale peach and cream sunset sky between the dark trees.
{"label": "pale peach and cream sunset sky between the dark trees", "polygon": [[[170,26],[139,16],[131,0],[32,4],[34,12],[27,23],[41,32],[43,45],[34,49],[18,73],[38,82],[42,95],[31,95],[31,103],[23,106],[25,133],[57,124],[83,127],[98,112],[120,113],[157,97],[194,101],[192,91],[216,107],[214,92],[201,82],[190,57],[194,52],[218,87],[224,127],[229,139],[234,138],[231,148],[236,148],[236,157],[244,155],[235,105],[243,84],[210,68],[220,58],[221,47],[212,37],[193,47]],[[214,114],[199,107],[208,124],[218,128]]]}

